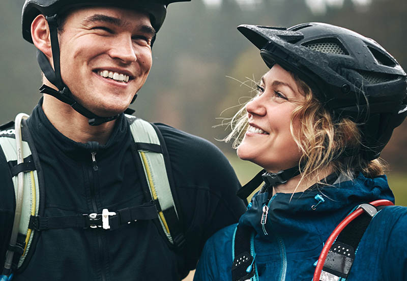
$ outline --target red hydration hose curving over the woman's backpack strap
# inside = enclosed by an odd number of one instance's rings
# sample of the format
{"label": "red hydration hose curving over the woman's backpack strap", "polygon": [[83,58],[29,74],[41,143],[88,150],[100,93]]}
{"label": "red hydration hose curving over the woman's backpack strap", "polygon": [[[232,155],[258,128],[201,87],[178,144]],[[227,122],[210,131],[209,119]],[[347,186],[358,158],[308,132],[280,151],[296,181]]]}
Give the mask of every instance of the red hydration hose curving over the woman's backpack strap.
{"label": "red hydration hose curving over the woman's backpack strap", "polygon": [[[369,203],[370,205],[373,205],[375,207],[377,206],[390,206],[394,205],[392,202],[389,200],[376,200],[373,202]],[[321,254],[319,254],[318,258],[318,263],[316,264],[316,268],[314,271],[314,277],[313,281],[319,281],[319,277],[321,276],[322,268],[324,267],[325,259],[327,258],[329,249],[331,248],[332,244],[334,243],[336,237],[338,237],[339,233],[353,220],[355,220],[356,217],[361,215],[364,212],[362,208],[357,208],[355,211],[352,213],[348,214],[342,222],[334,229],[334,231],[331,233],[329,236],[328,240],[325,242],[325,245],[321,251]]]}

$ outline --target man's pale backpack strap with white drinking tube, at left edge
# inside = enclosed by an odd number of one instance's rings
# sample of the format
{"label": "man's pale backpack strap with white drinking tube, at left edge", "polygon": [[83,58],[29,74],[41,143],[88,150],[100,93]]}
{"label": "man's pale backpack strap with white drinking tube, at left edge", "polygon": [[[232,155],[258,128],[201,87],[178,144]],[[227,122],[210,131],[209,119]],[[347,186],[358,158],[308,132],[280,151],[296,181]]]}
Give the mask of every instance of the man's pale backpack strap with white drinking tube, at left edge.
{"label": "man's pale backpack strap with white drinking tube, at left edge", "polygon": [[[30,246],[34,232],[28,228],[31,215],[37,215],[39,210],[39,183],[36,163],[30,145],[26,141],[28,115],[20,113],[14,123],[9,122],[0,129],[0,146],[4,152],[14,185],[16,209],[10,245],[6,254],[4,274],[21,267]],[[7,128],[6,128],[7,127]]]}

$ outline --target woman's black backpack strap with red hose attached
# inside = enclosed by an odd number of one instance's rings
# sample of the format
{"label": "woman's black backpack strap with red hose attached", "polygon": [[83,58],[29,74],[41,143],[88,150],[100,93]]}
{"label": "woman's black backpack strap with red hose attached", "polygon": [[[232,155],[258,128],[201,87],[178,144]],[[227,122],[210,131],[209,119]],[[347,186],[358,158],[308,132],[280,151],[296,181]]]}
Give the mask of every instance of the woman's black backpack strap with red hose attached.
{"label": "woman's black backpack strap with red hose attached", "polygon": [[385,206],[393,205],[388,200],[364,203],[347,215],[335,228],[319,255],[313,280],[346,280],[355,254],[373,217]]}

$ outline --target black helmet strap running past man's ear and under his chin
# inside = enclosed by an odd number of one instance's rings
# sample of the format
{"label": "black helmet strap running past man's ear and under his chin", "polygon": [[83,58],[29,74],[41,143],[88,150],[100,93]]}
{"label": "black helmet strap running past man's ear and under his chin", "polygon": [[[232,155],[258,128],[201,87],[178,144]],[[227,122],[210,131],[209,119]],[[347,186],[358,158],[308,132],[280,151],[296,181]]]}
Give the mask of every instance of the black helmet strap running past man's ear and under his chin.
{"label": "black helmet strap running past man's ear and under his chin", "polygon": [[[76,110],[77,112],[79,112],[80,114],[89,119],[90,126],[98,126],[102,123],[117,119],[120,116],[119,114],[110,117],[101,117],[89,111],[75,100],[70,89],[68,88],[67,85],[64,84],[61,77],[60,44],[58,41],[57,15],[55,14],[53,16],[46,16],[45,18],[47,19],[49,25],[52,57],[55,70],[50,65],[46,55],[40,50],[37,50],[37,61],[45,77],[48,79],[49,82],[55,85],[58,88],[58,90],[55,90],[47,85],[42,85],[40,87],[40,92],[51,95],[52,97],[55,97],[61,102],[69,104],[74,110]],[[136,97],[137,94],[134,95],[132,103],[134,102]]]}

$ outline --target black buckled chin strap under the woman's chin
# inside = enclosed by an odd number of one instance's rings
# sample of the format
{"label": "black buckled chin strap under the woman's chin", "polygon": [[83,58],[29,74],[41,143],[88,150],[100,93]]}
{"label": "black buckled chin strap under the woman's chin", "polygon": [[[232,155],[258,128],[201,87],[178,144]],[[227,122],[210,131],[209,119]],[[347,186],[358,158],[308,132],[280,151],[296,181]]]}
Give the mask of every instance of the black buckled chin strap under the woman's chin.
{"label": "black buckled chin strap under the woman's chin", "polygon": [[286,183],[290,178],[298,176],[300,174],[300,169],[298,166],[289,168],[286,170],[281,170],[277,173],[269,173],[266,170],[261,170],[257,173],[248,183],[242,186],[240,190],[236,193],[241,199],[246,200],[247,197],[261,184],[265,182],[266,186],[277,186],[282,183]]}

